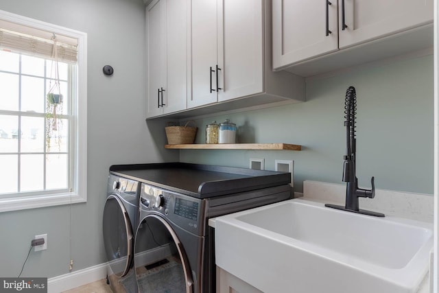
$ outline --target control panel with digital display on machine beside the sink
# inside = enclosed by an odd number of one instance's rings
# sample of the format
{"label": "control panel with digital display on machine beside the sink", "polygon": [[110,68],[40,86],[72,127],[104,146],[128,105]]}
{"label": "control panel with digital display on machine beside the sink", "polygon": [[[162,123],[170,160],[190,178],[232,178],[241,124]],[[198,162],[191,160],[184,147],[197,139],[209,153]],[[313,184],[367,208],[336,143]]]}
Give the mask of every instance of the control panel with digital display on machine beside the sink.
{"label": "control panel with digital display on machine beside the sink", "polygon": [[159,213],[167,220],[192,233],[202,233],[202,200],[142,184],[140,194],[141,217]]}

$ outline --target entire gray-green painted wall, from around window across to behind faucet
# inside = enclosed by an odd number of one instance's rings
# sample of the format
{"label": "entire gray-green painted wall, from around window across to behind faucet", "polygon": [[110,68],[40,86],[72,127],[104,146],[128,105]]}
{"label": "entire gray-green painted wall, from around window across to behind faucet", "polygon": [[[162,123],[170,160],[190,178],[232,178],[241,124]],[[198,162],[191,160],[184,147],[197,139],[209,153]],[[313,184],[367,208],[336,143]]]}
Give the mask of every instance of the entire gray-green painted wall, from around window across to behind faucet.
{"label": "entire gray-green painted wall, from around window across to behind faucet", "polygon": [[[54,277],[105,261],[102,210],[108,167],[178,161],[163,150],[161,120],[145,124],[144,10],[134,0],[1,0],[0,10],[88,33],[88,202],[0,213],[0,276],[16,277],[34,235],[48,233],[48,249],[31,253],[23,276]],[[115,74],[102,74],[104,65]],[[415,58],[307,83],[307,102],[197,121],[198,142],[212,119],[252,129],[257,142],[303,145],[289,151],[180,151],[180,161],[248,167],[248,159],[295,161],[296,191],[303,180],[341,183],[345,149],[342,108],[357,88],[357,175],[368,187],[433,193],[433,58]],[[251,142],[252,142],[251,141]],[[70,224],[71,223],[71,224]],[[71,231],[71,233],[70,233]],[[70,237],[71,235],[71,237]]]}

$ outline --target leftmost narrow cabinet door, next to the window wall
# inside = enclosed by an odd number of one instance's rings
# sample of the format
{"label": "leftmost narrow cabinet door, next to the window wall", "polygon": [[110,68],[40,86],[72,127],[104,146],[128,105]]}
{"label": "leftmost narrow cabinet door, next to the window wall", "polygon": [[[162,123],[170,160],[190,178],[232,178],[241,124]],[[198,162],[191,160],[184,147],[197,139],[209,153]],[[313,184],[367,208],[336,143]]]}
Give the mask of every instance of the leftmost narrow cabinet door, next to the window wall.
{"label": "leftmost narrow cabinet door, next to the window wall", "polygon": [[147,117],[163,113],[161,94],[166,88],[166,0],[146,8],[147,32]]}

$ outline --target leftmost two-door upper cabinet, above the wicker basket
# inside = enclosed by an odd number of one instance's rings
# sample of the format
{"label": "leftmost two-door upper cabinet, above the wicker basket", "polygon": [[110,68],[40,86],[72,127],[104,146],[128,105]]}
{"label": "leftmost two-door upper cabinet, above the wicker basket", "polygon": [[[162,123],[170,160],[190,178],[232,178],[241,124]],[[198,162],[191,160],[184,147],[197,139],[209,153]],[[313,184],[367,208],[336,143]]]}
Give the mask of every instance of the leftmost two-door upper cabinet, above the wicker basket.
{"label": "leftmost two-door upper cabinet, above the wicker basket", "polygon": [[147,117],[187,107],[187,9],[181,0],[147,6]]}

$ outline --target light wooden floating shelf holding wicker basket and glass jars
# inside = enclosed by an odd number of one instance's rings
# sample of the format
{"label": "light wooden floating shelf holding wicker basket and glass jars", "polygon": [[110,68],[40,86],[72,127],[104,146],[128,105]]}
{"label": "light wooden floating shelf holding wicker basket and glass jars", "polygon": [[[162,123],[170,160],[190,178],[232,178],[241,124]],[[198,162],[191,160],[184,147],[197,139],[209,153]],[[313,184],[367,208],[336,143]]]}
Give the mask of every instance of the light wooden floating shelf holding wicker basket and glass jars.
{"label": "light wooden floating shelf holding wicker basket and glass jars", "polygon": [[193,143],[165,145],[165,148],[178,150],[301,150],[302,145],[292,145],[289,143]]}

